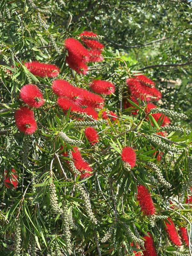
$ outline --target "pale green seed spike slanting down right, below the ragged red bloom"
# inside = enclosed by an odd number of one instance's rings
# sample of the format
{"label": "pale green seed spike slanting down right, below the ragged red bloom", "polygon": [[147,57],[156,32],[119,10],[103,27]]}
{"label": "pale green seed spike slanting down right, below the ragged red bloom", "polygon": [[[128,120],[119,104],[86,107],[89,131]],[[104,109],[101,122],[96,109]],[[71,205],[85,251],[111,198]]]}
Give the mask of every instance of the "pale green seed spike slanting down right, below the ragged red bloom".
{"label": "pale green seed spike slanting down right, below the ragged red bloom", "polygon": [[80,192],[80,195],[84,200],[84,207],[87,212],[87,216],[89,217],[90,221],[92,221],[93,224],[97,225],[97,219],[95,218],[92,212],[91,203],[90,203],[89,197],[87,196],[87,193],[85,192],[84,188],[80,184],[76,184],[76,189],[77,191]]}

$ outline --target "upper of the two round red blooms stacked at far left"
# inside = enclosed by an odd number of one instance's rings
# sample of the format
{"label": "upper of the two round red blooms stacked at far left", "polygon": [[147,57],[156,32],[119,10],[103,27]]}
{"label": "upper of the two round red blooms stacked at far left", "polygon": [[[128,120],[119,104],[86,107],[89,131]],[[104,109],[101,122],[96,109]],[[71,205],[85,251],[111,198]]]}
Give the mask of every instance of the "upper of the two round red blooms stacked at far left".
{"label": "upper of the two round red blooms stacked at far left", "polygon": [[40,108],[45,100],[39,88],[34,84],[26,84],[21,88],[20,98],[31,108]]}

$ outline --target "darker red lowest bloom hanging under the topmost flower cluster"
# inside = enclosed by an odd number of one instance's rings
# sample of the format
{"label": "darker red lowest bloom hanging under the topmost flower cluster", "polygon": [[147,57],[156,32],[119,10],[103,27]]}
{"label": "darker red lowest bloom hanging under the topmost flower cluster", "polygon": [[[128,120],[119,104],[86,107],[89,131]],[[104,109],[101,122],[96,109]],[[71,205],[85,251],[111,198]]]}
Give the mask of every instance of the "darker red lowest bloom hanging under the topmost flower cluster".
{"label": "darker red lowest bloom hanging under the topmost flower cluster", "polygon": [[74,69],[77,74],[86,75],[88,67],[83,61],[79,59],[74,60],[74,58],[69,54],[69,56],[66,57],[66,62],[69,65],[69,68]]}

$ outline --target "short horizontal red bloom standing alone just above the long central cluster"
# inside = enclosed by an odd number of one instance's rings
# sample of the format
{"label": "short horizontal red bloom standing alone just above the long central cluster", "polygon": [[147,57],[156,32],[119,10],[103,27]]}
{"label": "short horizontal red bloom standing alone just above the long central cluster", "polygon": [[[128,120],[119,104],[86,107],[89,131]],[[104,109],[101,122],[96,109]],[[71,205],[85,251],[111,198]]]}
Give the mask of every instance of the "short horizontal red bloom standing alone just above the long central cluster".
{"label": "short horizontal red bloom standing alone just above the long central cluster", "polygon": [[93,92],[97,92],[100,94],[109,95],[115,92],[115,86],[107,81],[102,80],[92,80],[90,87]]}

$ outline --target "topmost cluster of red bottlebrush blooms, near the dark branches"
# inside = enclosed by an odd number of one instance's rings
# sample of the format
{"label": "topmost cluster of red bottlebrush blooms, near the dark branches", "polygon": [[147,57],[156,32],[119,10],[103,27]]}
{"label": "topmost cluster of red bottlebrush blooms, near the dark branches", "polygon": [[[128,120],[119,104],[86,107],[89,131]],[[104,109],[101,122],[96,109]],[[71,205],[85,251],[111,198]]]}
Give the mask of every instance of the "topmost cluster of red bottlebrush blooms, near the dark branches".
{"label": "topmost cluster of red bottlebrush blooms, near the dark branches", "polygon": [[[86,75],[88,71],[88,62],[103,61],[101,52],[104,46],[96,40],[97,35],[92,32],[84,31],[79,36],[89,50],[78,40],[67,38],[64,42],[65,49],[68,51],[66,62],[69,67],[74,69],[78,74]],[[94,40],[88,39],[90,37]]]}

